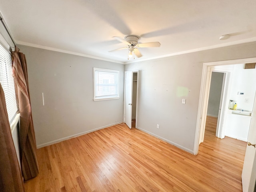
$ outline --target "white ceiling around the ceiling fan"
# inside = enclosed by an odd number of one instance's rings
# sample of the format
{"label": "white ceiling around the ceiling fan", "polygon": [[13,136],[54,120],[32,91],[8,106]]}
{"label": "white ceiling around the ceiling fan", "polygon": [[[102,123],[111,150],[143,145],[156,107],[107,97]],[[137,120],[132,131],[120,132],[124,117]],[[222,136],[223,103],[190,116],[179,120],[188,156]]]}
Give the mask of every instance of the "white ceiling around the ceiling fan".
{"label": "white ceiling around the ceiling fan", "polygon": [[[120,63],[256,41],[255,0],[0,0],[0,12],[17,44]],[[108,52],[128,34],[161,46]]]}

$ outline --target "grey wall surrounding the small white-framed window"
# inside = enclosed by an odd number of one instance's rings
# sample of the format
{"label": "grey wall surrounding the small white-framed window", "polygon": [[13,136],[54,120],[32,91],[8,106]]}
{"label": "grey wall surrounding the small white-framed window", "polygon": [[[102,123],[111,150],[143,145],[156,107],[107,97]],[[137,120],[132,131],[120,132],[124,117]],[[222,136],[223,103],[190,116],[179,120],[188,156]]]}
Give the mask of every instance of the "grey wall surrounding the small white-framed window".
{"label": "grey wall surrounding the small white-framed window", "polygon": [[[122,122],[123,64],[18,47],[26,55],[38,147]],[[120,99],[93,101],[93,67],[120,70]]]}

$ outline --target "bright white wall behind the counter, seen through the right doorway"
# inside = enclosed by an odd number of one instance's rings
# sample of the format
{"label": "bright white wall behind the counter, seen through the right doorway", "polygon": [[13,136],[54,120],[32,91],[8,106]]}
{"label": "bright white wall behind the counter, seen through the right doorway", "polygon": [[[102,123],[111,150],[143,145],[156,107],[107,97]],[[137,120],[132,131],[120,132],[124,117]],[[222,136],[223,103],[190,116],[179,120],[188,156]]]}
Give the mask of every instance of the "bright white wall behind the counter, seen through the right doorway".
{"label": "bright white wall behind the counter, seen through the right doorway", "polygon": [[[237,109],[252,111],[256,92],[256,69],[244,69],[244,64],[237,64],[234,65],[232,73],[229,100],[237,103]],[[244,92],[244,95],[238,95],[238,92]],[[247,142],[251,117],[232,114],[232,110],[226,110],[225,115],[225,136]]]}

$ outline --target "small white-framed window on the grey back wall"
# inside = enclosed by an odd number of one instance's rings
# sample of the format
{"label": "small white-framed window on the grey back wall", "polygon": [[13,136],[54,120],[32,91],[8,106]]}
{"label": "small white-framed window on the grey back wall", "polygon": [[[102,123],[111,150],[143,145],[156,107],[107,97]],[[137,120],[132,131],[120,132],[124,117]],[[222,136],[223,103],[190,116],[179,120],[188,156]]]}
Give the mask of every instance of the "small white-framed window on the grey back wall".
{"label": "small white-framed window on the grey back wall", "polygon": [[93,68],[94,101],[119,98],[119,71]]}

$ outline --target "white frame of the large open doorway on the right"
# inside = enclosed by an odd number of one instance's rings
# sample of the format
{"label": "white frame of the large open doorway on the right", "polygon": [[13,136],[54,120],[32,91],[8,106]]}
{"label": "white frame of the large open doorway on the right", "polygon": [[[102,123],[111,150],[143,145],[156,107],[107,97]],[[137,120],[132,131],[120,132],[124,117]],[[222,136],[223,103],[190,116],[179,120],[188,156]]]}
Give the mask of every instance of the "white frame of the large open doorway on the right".
{"label": "white frame of the large open doorway on the right", "polygon": [[[223,65],[234,65],[234,64],[244,64],[244,63],[253,63],[256,62],[256,58],[245,58],[245,59],[236,59],[236,60],[226,60],[226,61],[217,61],[217,62],[206,62],[203,64],[202,70],[202,80],[200,87],[200,96],[199,96],[199,106],[198,106],[198,115],[196,121],[196,134],[194,140],[194,150],[193,154],[197,155],[200,144],[200,134],[202,134],[205,120],[206,120],[206,109],[208,105],[209,98],[209,81],[211,77],[210,68],[213,66],[223,66]],[[256,118],[255,116],[252,118]]]}

